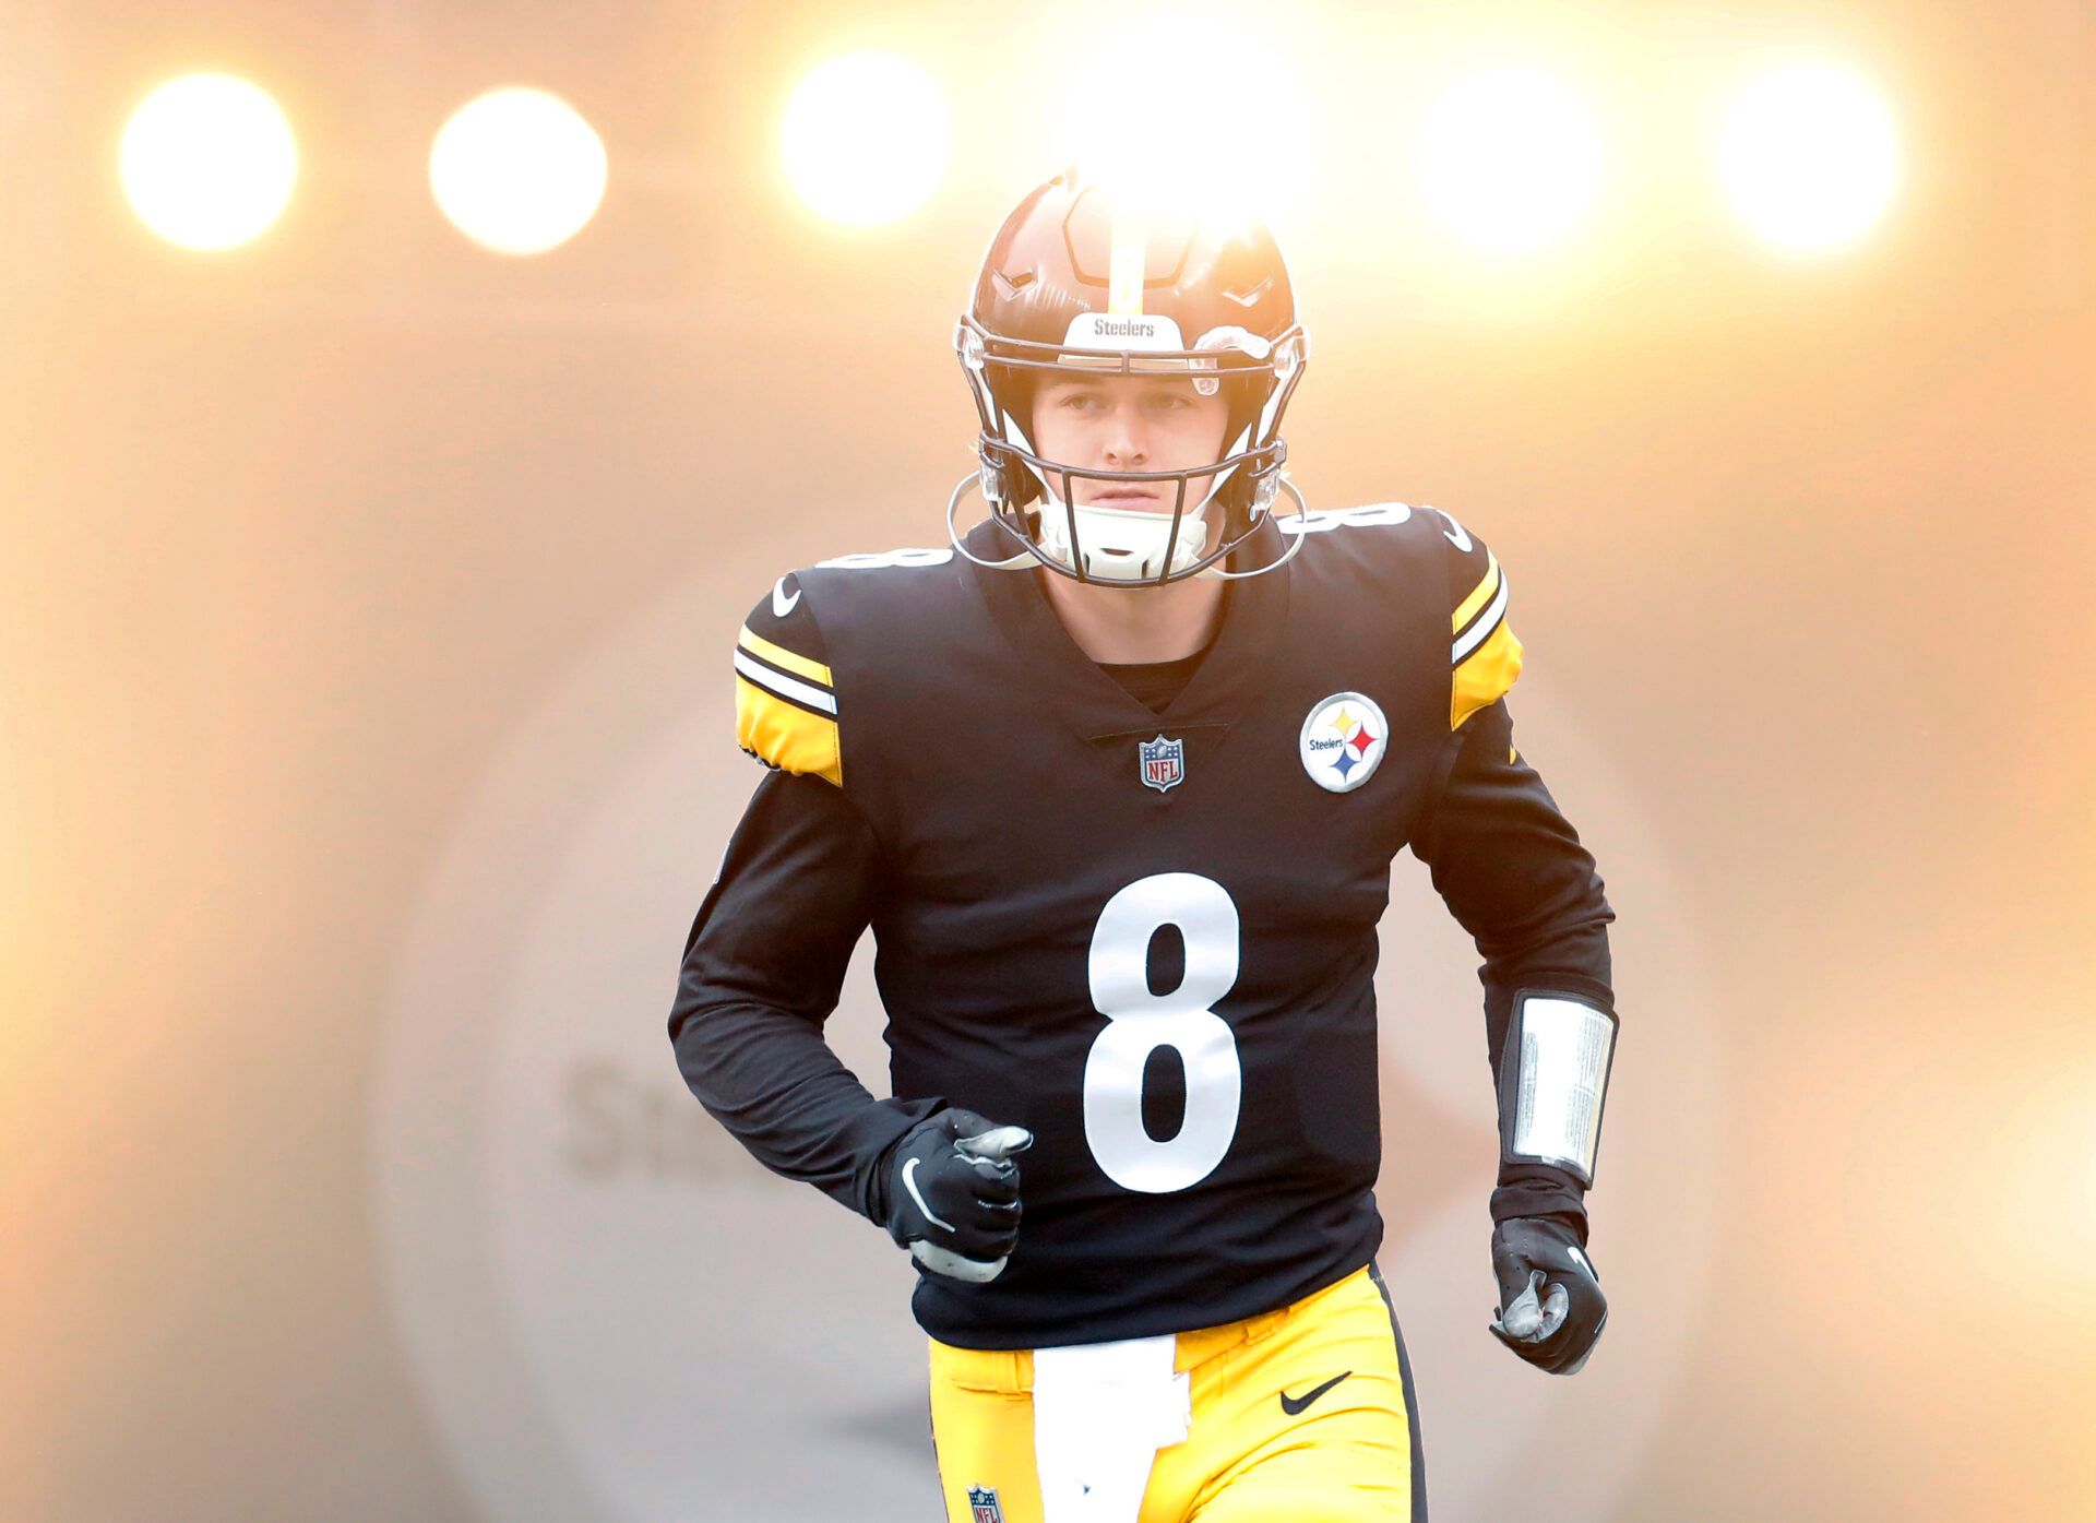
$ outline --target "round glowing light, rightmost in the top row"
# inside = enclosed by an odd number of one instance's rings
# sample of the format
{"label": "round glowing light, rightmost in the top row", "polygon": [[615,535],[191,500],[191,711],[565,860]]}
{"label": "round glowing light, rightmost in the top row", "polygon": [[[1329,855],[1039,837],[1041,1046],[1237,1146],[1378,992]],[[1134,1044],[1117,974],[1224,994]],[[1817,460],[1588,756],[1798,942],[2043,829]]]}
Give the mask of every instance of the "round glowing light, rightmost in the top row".
{"label": "round glowing light, rightmost in the top row", "polygon": [[1878,220],[1899,151],[1891,115],[1859,80],[1798,67],[1746,88],[1725,122],[1721,157],[1733,205],[1763,237],[1821,249]]}

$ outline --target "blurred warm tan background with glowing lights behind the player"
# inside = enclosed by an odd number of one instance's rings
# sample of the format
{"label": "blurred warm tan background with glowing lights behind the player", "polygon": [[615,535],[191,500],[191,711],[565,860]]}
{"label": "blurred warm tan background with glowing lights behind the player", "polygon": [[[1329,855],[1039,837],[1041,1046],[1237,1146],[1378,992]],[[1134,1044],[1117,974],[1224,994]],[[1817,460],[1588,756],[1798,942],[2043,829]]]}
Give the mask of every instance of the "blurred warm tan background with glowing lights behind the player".
{"label": "blurred warm tan background with glowing lights behind the player", "polygon": [[0,1517],[937,1515],[908,1261],[664,1020],[744,610],[941,543],[989,233],[1115,153],[1270,216],[1312,505],[1509,566],[1620,913],[1553,1383],[1396,865],[1436,1517],[2096,1517],[2092,78],[2069,0],[0,8]]}

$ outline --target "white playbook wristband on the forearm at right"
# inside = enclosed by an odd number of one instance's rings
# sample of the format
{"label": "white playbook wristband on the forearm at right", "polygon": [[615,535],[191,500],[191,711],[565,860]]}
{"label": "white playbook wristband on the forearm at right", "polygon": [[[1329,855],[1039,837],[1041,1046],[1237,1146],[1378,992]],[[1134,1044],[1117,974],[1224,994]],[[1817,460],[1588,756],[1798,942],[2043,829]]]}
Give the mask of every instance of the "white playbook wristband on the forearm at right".
{"label": "white playbook wristband on the forearm at right", "polygon": [[1614,1058],[1612,1010],[1585,995],[1520,991],[1499,1060],[1501,1161],[1547,1163],[1591,1186]]}

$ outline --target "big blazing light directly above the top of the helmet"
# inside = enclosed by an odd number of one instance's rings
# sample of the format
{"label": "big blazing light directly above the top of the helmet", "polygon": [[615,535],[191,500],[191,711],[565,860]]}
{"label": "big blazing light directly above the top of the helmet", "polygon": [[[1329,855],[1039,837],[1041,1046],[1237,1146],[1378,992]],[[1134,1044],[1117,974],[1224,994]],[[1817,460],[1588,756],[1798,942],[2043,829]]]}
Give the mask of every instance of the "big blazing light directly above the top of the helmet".
{"label": "big blazing light directly above the top of the helmet", "polygon": [[1310,113],[1272,36],[1211,8],[1155,13],[1088,46],[1071,78],[1058,161],[1121,203],[1237,222],[1304,184]]}

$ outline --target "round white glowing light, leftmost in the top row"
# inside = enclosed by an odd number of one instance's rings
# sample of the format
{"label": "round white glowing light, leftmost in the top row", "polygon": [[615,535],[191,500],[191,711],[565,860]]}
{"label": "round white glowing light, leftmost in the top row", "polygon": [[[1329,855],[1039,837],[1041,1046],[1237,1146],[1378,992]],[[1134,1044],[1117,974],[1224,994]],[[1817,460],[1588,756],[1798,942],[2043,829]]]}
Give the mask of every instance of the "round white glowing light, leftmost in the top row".
{"label": "round white glowing light, leftmost in the top row", "polygon": [[132,111],[124,195],[153,233],[189,249],[260,237],[291,201],[298,142],[266,90],[226,73],[170,80]]}

